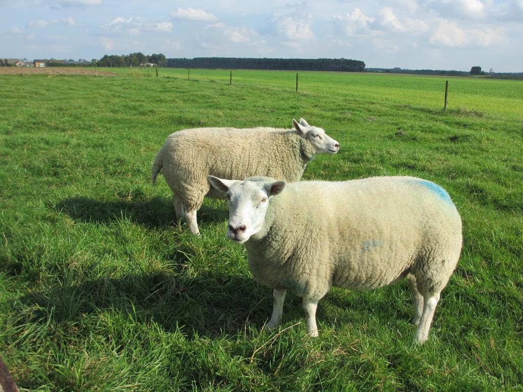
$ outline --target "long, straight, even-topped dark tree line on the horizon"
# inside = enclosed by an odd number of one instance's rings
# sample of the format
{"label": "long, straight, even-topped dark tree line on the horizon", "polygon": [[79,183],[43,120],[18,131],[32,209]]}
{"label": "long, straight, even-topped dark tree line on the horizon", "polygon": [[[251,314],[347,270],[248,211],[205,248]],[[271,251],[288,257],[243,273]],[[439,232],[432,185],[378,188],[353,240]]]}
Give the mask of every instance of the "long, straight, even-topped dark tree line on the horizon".
{"label": "long, straight, even-topped dark tree line on the horizon", "polygon": [[227,68],[242,70],[343,71],[361,72],[365,63],[350,59],[252,59],[239,57],[195,57],[167,59],[174,68]]}

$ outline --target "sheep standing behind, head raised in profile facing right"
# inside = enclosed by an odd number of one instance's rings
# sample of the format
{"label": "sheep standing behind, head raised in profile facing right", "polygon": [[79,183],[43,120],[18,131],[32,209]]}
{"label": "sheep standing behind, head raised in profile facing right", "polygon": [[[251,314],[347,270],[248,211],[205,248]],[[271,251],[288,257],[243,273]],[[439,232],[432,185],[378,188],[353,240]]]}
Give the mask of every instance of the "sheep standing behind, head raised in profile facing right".
{"label": "sheep standing behind, head raised in profile facing right", "polygon": [[199,235],[196,212],[203,197],[218,198],[207,176],[245,178],[270,176],[299,181],[316,154],[336,154],[337,141],[304,119],[292,119],[294,129],[198,128],[170,134],[152,167],[154,186],[158,172],[170,190],[178,220],[185,216],[192,234]]}

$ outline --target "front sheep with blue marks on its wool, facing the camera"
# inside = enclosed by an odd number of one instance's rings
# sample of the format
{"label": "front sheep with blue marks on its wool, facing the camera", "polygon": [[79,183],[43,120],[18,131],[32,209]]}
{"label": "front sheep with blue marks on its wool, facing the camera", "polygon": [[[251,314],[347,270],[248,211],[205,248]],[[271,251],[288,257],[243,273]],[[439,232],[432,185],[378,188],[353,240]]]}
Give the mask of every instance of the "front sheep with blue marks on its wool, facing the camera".
{"label": "front sheep with blue marks on its wool, facing the camera", "polygon": [[316,306],[331,286],[373,290],[406,278],[414,342],[427,340],[462,244],[444,189],[415,177],[208,180],[228,200],[227,236],[245,245],[254,278],[274,289],[267,329],[280,324],[287,289],[303,298],[307,332],[317,337]]}

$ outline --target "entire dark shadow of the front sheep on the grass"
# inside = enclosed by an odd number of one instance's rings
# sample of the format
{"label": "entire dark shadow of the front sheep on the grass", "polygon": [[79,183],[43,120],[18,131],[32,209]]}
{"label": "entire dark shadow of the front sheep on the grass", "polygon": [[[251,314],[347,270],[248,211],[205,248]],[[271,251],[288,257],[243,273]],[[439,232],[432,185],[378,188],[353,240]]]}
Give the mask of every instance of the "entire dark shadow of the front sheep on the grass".
{"label": "entire dark shadow of the front sheep on the grass", "polygon": [[[388,301],[379,301],[377,307],[377,303],[359,294],[348,301],[339,291],[327,294],[316,315],[320,328],[322,324],[340,329],[348,324],[366,325],[373,317],[379,318],[379,324],[398,325],[412,317],[391,307]],[[249,326],[261,331],[272,312],[272,290],[251,276],[224,273],[188,278],[184,274],[160,272],[64,282],[48,290],[30,292],[19,301],[34,309],[35,323],[46,324],[51,319],[56,324],[76,324],[86,315],[105,319],[104,313],[109,312],[133,322],[148,324],[152,320],[168,332],[181,328],[188,338],[237,336]],[[301,298],[288,292],[282,327],[302,322],[304,328],[304,321]]]}

